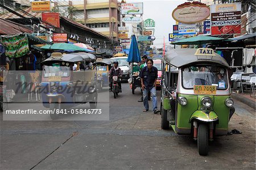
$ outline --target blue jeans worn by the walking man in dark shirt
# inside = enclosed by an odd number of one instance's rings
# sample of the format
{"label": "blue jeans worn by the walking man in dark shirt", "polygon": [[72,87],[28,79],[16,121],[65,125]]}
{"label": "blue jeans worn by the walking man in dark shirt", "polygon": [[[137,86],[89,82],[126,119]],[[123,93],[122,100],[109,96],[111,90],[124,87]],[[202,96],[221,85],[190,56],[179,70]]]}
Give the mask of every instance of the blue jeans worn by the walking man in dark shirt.
{"label": "blue jeans worn by the walking man in dark shirt", "polygon": [[143,104],[146,110],[148,110],[148,91],[151,92],[151,96],[152,96],[152,107],[153,110],[158,108],[158,101],[156,99],[156,89],[155,87],[153,88],[144,88],[143,90]]}

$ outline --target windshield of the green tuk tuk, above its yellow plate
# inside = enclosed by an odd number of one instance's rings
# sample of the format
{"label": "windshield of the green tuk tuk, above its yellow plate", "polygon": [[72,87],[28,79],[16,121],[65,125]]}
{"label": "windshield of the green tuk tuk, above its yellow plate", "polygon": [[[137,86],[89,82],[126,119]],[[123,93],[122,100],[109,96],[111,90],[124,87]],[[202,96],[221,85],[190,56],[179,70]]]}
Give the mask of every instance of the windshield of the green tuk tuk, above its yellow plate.
{"label": "windshield of the green tuk tuk, above its yellow plate", "polygon": [[194,85],[212,85],[217,90],[228,88],[226,69],[218,66],[187,67],[181,69],[182,85],[185,89],[193,89]]}

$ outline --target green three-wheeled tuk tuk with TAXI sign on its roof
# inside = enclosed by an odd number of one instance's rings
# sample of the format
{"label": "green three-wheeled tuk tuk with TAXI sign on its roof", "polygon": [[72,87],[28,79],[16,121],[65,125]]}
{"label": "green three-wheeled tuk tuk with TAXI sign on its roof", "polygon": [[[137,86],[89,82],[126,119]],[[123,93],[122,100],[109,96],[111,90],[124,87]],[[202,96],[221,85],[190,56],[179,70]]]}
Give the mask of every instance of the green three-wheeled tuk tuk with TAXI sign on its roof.
{"label": "green three-wheeled tuk tuk with TAXI sign on its roof", "polygon": [[[163,66],[168,68],[162,76],[162,128],[191,134],[199,154],[207,155],[209,140],[227,134],[234,113],[229,65],[213,49],[187,48],[168,51]],[[179,69],[177,76],[173,67]]]}

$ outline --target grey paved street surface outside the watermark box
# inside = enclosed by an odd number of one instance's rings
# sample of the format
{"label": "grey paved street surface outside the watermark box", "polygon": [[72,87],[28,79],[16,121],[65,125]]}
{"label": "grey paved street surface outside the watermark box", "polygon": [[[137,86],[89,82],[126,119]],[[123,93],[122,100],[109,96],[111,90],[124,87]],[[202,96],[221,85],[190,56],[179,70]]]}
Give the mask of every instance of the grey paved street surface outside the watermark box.
{"label": "grey paved street surface outside the watermark box", "polygon": [[0,169],[255,169],[249,106],[235,101],[229,128],[242,134],[218,136],[209,155],[200,156],[190,136],[161,130],[159,114],[142,112],[139,89],[134,95],[128,84],[122,89],[116,99],[109,93],[109,121],[2,121],[1,113]]}

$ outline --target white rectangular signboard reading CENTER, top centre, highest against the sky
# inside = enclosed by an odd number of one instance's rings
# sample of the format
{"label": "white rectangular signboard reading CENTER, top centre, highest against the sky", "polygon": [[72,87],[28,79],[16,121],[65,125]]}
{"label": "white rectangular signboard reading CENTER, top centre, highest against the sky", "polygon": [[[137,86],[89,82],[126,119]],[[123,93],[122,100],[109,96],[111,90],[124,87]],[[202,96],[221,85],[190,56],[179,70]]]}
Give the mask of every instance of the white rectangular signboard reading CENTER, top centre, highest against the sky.
{"label": "white rectangular signboard reading CENTER, top centre, highest against the sky", "polygon": [[143,3],[121,3],[121,14],[143,14]]}

